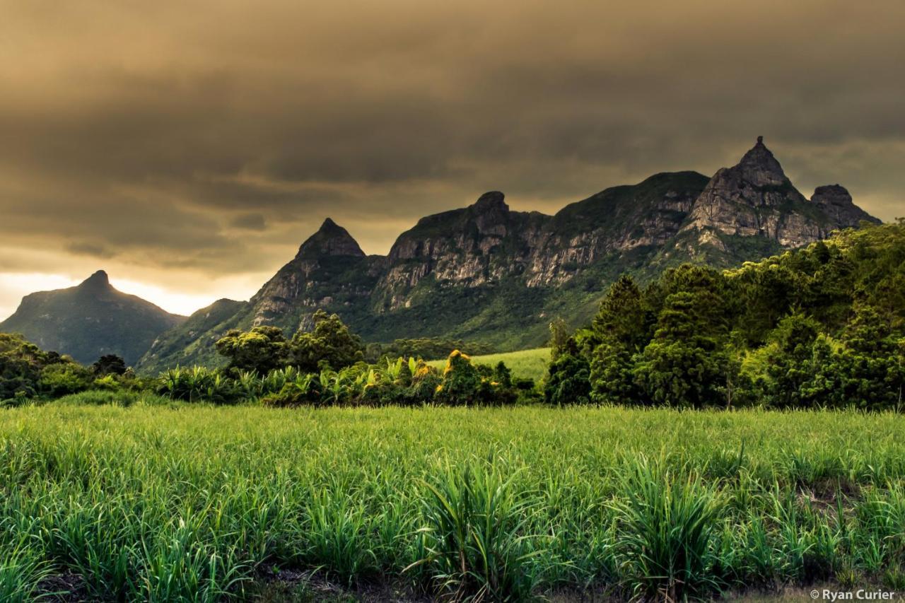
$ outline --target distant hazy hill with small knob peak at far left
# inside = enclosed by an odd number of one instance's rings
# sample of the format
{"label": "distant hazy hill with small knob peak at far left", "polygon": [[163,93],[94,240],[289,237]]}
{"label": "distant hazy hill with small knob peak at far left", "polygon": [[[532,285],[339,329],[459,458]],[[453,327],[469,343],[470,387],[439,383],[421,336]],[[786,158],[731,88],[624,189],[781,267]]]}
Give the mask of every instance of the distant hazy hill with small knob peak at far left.
{"label": "distant hazy hill with small knob peak at far left", "polygon": [[133,365],[158,335],[186,321],[110,285],[98,271],[77,287],[26,295],[0,331],[22,333],[43,349],[90,363],[117,354]]}

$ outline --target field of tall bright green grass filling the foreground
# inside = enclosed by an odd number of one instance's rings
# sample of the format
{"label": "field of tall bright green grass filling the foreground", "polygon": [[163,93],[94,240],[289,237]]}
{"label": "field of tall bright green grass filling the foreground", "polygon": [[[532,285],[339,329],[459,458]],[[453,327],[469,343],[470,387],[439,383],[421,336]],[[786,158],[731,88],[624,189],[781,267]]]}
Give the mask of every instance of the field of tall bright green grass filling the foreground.
{"label": "field of tall bright green grass filling the foreground", "polygon": [[0,600],[905,589],[905,416],[115,398],[0,413]]}

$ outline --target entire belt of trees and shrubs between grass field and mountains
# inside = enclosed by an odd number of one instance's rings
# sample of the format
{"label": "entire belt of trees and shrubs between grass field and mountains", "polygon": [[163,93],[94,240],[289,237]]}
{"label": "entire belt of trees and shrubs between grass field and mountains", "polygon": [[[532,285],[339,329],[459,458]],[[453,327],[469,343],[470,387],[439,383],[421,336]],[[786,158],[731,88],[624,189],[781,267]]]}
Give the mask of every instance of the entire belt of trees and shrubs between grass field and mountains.
{"label": "entire belt of trees and shrubs between grass field and mountains", "polygon": [[623,275],[589,326],[570,334],[551,323],[548,370],[543,349],[425,362],[480,344],[366,345],[338,315],[317,311],[312,329],[292,338],[272,326],[229,330],[214,343],[221,368],[157,378],[136,377],[121,359],[116,370],[85,369],[0,335],[0,402],[125,388],[216,404],[480,406],[538,401],[542,388],[556,406],[900,411],[903,291],[905,222],[865,225],[727,271],[685,263],[643,288]]}

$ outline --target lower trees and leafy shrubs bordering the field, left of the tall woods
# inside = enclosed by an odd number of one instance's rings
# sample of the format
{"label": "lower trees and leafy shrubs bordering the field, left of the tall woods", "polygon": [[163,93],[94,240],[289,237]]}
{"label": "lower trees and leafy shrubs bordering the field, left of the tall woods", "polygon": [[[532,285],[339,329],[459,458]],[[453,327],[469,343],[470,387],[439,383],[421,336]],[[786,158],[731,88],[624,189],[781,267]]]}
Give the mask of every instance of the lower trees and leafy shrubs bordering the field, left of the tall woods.
{"label": "lower trees and leafy shrubs bordering the field, left of the tall woods", "polygon": [[459,350],[440,368],[414,356],[367,364],[361,339],[336,314],[317,311],[313,319],[313,330],[291,340],[270,326],[231,330],[217,341],[229,361],[224,369],[176,367],[158,378],[137,378],[117,356],[85,368],[19,336],[0,334],[0,400],[12,406],[86,390],[153,391],[187,402],[270,407],[499,406],[538,399],[533,379],[512,378],[501,361],[474,364]]}

